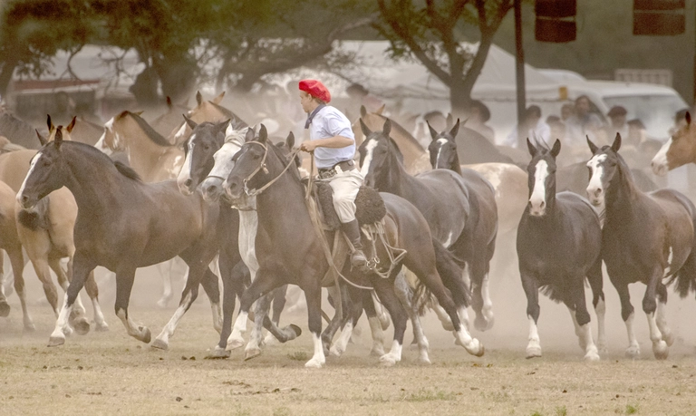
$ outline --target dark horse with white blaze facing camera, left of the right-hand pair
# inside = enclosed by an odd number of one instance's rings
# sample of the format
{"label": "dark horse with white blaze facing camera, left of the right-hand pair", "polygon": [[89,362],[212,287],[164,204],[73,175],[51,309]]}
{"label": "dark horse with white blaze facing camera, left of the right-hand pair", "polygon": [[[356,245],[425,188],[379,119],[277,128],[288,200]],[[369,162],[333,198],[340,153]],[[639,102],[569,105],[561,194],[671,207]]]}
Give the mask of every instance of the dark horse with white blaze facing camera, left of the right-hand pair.
{"label": "dark horse with white blaze facing camera, left of the right-hand pair", "polygon": [[602,227],[587,199],[572,192],[556,194],[556,156],[561,141],[551,150],[535,147],[527,139],[529,204],[517,230],[517,256],[522,287],[527,295],[529,343],[527,358],[541,356],[536,328],[539,289],[563,302],[575,324],[575,334],[585,360],[599,360],[585,305],[585,276],[592,287],[594,311],[599,321],[598,343],[604,349],[604,292],[602,291]]}

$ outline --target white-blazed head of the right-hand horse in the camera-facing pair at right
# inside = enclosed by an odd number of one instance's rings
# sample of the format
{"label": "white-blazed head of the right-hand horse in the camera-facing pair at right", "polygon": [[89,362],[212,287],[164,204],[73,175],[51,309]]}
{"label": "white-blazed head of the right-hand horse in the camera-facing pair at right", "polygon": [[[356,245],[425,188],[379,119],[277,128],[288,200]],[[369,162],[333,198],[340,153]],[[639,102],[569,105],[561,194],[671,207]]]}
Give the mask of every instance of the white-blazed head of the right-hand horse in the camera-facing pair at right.
{"label": "white-blazed head of the right-hand horse in the camera-facing pair at right", "polygon": [[604,209],[604,196],[609,189],[616,172],[621,169],[623,160],[619,156],[621,148],[621,135],[616,133],[616,138],[611,146],[603,146],[601,149],[587,138],[587,145],[592,151],[592,159],[587,162],[590,169],[590,183],[587,185],[587,198],[594,207]]}

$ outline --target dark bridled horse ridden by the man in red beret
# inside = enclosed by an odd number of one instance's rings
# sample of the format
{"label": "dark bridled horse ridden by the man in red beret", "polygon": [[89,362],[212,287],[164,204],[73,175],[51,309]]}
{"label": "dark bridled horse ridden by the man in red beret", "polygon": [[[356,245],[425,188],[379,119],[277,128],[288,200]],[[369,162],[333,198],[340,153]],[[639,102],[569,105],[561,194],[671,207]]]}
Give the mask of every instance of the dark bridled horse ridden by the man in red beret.
{"label": "dark bridled horse ridden by the man in red beret", "polygon": [[[292,161],[285,159],[281,150],[268,144],[265,132],[266,129],[262,129],[258,140],[247,141],[233,160],[226,161],[235,163],[225,181],[228,196],[236,200],[247,194],[256,195],[258,213],[256,256],[259,269],[256,279],[242,296],[235,331],[245,329],[249,308],[260,295],[287,283],[299,285],[307,300],[308,326],[314,340],[314,355],[304,365],[321,367],[325,363],[324,344],[320,334],[321,281],[330,266],[324,256],[322,240],[313,229],[299,173]],[[437,243],[433,243],[430,237],[427,222],[418,209],[405,199],[389,194],[382,194],[382,198],[387,208],[384,228],[387,230],[385,237],[388,243],[392,247],[407,250],[402,258],[403,265],[419,276],[421,282],[447,310],[458,342],[469,353],[482,354],[481,344],[470,336],[459,321],[458,313],[464,312],[466,305],[455,305],[441,283],[433,247]],[[286,215],[278,215],[281,207]],[[389,258],[382,245],[376,246],[380,258]],[[383,261],[382,266],[389,266],[387,263]],[[401,360],[401,344],[406,326],[405,314],[393,292],[393,278],[399,273],[401,265],[394,266],[393,269],[390,268],[389,279],[369,274],[370,282],[394,321],[391,352],[381,358],[382,363],[387,364]],[[453,263],[452,266],[459,269]],[[442,278],[456,280],[459,279],[457,275],[458,273],[451,273]]]}

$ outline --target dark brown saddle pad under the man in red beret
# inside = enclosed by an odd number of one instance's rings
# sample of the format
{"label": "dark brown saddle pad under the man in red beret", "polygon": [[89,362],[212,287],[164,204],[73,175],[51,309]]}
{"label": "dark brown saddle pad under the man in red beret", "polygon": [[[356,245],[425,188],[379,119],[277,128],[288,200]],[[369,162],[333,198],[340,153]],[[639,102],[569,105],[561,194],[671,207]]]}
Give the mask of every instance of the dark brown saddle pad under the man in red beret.
{"label": "dark brown saddle pad under the man in red beret", "polygon": [[[333,208],[333,189],[331,189],[328,183],[324,182],[314,182],[314,186],[316,187],[319,210],[324,219],[324,225],[329,230],[334,231],[341,227],[341,221]],[[387,215],[384,199],[382,199],[379,192],[370,187],[360,187],[358,196],[355,197],[355,206],[357,208],[355,218],[361,226],[374,224]]]}

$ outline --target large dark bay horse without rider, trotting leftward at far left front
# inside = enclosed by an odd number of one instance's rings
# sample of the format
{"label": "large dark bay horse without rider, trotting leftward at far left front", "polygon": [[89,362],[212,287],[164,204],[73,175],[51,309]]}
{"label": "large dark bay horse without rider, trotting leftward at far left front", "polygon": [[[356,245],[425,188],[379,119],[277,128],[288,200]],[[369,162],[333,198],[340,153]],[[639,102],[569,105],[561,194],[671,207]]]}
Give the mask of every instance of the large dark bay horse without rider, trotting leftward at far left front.
{"label": "large dark bay horse without rider, trotting leftward at far left front", "polygon": [[[33,208],[55,189],[70,189],[78,207],[74,227],[73,280],[49,345],[65,342],[63,327],[85,279],[96,266],[116,273],[116,315],[128,334],[150,343],[150,330],[133,323],[128,304],[135,271],[181,256],[189,265],[187,285],[169,324],[158,337],[167,343],[203,285],[219,328],[218,276],[208,264],[218,252],[218,206],[199,194],[184,197],[176,182],[146,184],[130,168],[111,161],[92,146],[63,141],[61,131],[32,159],[17,201]],[[219,330],[219,329],[218,329]]]}

